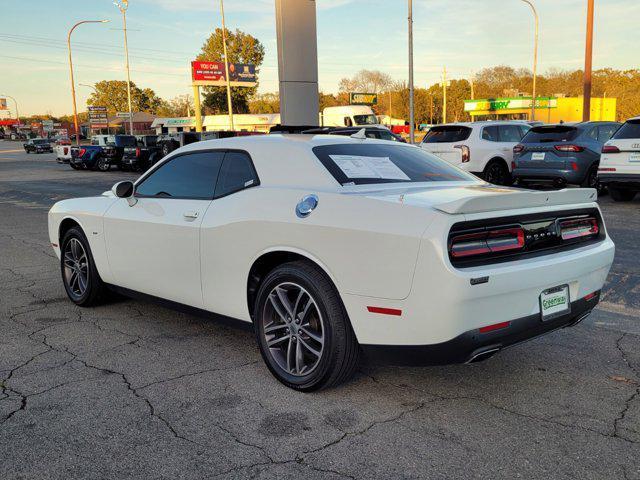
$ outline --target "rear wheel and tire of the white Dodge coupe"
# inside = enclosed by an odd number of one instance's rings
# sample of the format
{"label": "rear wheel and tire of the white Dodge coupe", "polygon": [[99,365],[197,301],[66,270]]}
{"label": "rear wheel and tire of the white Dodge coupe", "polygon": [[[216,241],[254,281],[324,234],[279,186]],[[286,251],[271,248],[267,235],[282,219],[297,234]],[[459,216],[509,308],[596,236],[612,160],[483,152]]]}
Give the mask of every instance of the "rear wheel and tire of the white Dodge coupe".
{"label": "rear wheel and tire of the white Dodge coupe", "polygon": [[337,385],[357,368],[360,346],[342,300],[313,264],[286,263],[266,276],[256,296],[254,330],[268,369],[294,390]]}

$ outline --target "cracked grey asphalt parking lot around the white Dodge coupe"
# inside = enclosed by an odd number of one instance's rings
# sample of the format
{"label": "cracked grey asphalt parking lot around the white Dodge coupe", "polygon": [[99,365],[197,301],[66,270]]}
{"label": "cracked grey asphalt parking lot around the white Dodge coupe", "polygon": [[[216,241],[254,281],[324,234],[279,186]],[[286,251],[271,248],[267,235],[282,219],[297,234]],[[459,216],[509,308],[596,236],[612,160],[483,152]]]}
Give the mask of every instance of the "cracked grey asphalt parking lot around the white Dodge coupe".
{"label": "cracked grey asphalt parking lot around the white Dodge coupe", "polygon": [[0,478],[640,479],[640,199],[600,201],[616,260],[580,325],[303,394],[249,332],[67,300],[47,210],[132,178],[0,141]]}

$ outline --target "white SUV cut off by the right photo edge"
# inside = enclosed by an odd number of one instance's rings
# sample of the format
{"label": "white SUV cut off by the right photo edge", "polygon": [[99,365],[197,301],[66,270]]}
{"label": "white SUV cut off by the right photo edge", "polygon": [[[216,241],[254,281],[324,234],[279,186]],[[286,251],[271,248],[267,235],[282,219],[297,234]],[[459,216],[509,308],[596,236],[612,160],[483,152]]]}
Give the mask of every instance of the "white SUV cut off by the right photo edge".
{"label": "white SUV cut off by the right photo edge", "polygon": [[640,192],[640,117],[627,120],[602,147],[598,180],[616,202]]}

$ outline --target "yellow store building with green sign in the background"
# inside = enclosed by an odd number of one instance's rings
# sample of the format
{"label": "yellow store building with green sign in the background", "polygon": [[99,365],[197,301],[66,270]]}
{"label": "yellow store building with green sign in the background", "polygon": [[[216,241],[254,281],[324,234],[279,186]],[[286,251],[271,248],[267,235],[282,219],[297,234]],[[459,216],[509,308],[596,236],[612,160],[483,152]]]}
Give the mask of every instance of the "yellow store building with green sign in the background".
{"label": "yellow store building with green sign in the background", "polygon": [[[545,123],[581,122],[582,97],[538,97],[535,118]],[[532,120],[531,97],[465,100],[471,120]],[[591,98],[591,120],[616,120],[615,98]]]}

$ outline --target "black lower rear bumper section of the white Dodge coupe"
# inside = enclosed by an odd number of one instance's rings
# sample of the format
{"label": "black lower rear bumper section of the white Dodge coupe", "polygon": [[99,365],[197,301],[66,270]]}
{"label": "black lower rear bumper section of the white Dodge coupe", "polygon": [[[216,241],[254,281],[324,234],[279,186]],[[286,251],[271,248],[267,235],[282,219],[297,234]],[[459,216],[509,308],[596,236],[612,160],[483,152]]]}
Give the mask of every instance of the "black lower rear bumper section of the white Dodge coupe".
{"label": "black lower rear bumper section of the white Dodge coupe", "polygon": [[432,345],[362,345],[367,359],[374,363],[405,366],[448,365],[468,363],[491,355],[518,343],[539,337],[559,328],[582,321],[598,304],[600,292],[593,298],[571,302],[571,311],[543,322],[540,313],[512,320],[508,327],[480,333],[473,329],[442,343]]}

